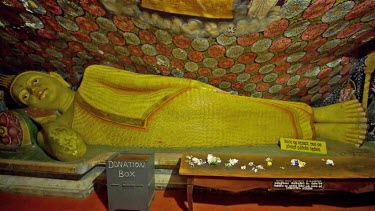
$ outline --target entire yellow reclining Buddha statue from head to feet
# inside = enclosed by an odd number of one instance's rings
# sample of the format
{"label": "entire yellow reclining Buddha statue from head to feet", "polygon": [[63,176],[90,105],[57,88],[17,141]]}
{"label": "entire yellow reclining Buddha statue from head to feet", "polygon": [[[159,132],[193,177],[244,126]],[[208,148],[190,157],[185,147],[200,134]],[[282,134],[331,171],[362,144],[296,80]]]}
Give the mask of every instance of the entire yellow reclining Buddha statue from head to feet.
{"label": "entire yellow reclining Buddha statue from head to feet", "polygon": [[85,70],[76,92],[57,73],[37,71],[18,75],[10,91],[41,125],[38,144],[61,161],[81,158],[86,144],[219,147],[277,144],[285,137],[362,145],[367,130],[356,100],[312,108],[101,65]]}

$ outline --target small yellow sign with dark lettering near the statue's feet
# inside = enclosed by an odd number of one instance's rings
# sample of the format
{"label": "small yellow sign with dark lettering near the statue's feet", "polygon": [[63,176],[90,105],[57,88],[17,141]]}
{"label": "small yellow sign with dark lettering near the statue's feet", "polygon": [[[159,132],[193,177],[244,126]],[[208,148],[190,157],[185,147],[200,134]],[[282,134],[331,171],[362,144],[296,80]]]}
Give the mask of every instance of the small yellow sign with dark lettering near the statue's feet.
{"label": "small yellow sign with dark lettering near the statue's feet", "polygon": [[282,150],[327,154],[327,145],[324,141],[280,138],[280,147]]}

